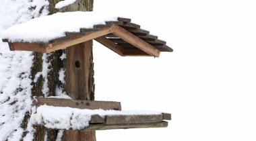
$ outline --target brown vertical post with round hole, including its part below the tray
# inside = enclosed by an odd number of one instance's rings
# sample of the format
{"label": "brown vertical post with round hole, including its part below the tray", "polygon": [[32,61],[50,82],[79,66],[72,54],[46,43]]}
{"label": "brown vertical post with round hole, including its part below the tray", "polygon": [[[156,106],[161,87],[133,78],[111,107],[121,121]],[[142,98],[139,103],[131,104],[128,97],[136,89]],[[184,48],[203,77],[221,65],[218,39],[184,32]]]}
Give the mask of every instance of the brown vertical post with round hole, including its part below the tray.
{"label": "brown vertical post with round hole, including its part below the tray", "polygon": [[[72,99],[90,100],[89,73],[92,40],[67,48],[66,91]],[[65,131],[63,141],[95,141],[95,131]]]}

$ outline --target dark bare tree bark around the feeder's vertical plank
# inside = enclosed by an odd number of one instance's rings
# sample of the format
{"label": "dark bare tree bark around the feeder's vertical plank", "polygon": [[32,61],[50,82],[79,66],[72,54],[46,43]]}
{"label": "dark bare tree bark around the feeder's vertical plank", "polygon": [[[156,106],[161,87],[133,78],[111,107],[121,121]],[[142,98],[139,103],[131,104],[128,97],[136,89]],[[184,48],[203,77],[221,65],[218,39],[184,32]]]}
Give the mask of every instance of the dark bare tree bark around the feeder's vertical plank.
{"label": "dark bare tree bark around the feeder's vertical plank", "polygon": [[[65,11],[92,11],[93,8],[93,0],[77,0],[75,3],[63,7],[61,9],[55,9],[55,4],[61,0],[49,0],[49,14],[53,14],[56,12],[65,12]],[[34,61],[32,65],[31,71],[31,78],[36,81],[33,81],[32,85],[32,95],[33,96],[46,96],[45,93],[42,93],[42,86],[44,85],[45,78],[40,75],[39,77],[36,76],[38,73],[42,72],[42,64],[43,61],[47,61],[48,66],[48,73],[47,73],[47,86],[49,88],[49,92],[47,93],[48,96],[55,96],[56,89],[60,88],[63,92],[65,92],[65,84],[59,81],[59,70],[63,68],[65,70],[65,59],[61,59],[61,56],[65,54],[66,50],[58,50],[53,53],[47,54],[47,57],[43,59],[43,54],[38,52],[33,52],[34,54]],[[92,52],[91,52],[92,56]],[[46,60],[45,60],[46,59]],[[89,82],[88,82],[88,91],[90,95],[90,100],[94,100],[94,63],[93,58],[90,59],[90,72],[89,72]],[[26,128],[27,121],[29,116],[26,115],[22,127]],[[56,140],[58,130],[49,130],[44,127],[34,127],[34,141],[42,141],[45,140],[45,134],[47,134],[46,140]],[[88,132],[90,134],[90,138],[85,139],[86,141],[95,141],[95,132]],[[26,133],[24,133],[26,135]]]}

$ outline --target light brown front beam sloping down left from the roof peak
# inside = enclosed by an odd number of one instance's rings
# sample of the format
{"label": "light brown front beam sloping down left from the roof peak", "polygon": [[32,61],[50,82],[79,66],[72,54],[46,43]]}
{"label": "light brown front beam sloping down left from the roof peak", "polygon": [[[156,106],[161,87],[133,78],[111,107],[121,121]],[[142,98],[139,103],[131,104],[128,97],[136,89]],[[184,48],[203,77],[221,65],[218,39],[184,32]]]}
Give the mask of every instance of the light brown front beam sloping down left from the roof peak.
{"label": "light brown front beam sloping down left from the roof peak", "polygon": [[69,40],[63,40],[61,42],[55,42],[53,44],[49,44],[50,48],[46,48],[46,52],[53,52],[55,50],[67,48],[67,47],[73,46],[75,44],[86,42],[88,40],[92,40],[94,38],[98,38],[100,36],[104,36],[106,34],[113,33],[115,31],[114,28],[115,28],[115,26],[112,26],[111,28],[106,28],[106,29],[100,30],[98,32],[92,32],[90,34],[86,34],[86,36],[81,36],[78,38],[70,38]]}

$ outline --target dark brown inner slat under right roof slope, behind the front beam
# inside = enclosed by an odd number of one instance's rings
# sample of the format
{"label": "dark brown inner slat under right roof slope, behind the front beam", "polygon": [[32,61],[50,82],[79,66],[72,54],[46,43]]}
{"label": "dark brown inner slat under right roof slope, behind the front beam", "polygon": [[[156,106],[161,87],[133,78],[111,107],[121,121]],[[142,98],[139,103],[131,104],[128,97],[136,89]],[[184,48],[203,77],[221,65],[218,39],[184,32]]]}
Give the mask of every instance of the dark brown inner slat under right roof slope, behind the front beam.
{"label": "dark brown inner slat under right roof slope, behind the front beam", "polygon": [[104,46],[106,46],[107,48],[109,48],[113,52],[116,52],[120,56],[123,56],[123,48],[121,48],[121,46],[115,44],[115,42],[112,42],[108,38],[99,37],[99,38],[95,38],[94,40],[96,40],[100,44],[103,44]]}

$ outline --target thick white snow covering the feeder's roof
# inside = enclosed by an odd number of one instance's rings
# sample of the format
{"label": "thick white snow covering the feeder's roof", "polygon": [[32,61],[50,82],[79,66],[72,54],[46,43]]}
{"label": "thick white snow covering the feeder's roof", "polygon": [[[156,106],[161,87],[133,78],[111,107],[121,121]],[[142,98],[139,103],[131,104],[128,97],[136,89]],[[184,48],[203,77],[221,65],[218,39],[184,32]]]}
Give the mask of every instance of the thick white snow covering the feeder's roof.
{"label": "thick white snow covering the feeder's roof", "polygon": [[104,21],[116,21],[120,15],[98,12],[65,12],[34,18],[5,30],[2,38],[10,42],[48,42],[65,36],[65,32],[79,32],[80,28],[93,28]]}

